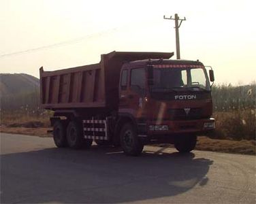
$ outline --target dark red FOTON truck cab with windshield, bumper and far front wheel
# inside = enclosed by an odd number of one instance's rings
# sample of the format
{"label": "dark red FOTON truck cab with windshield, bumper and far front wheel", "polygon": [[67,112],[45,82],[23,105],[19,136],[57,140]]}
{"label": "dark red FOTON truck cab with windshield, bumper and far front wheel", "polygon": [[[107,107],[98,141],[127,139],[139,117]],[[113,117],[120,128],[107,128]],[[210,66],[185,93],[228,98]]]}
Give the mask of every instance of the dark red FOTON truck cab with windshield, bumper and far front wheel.
{"label": "dark red FOTON truck cab with windshield, bumper and far front wheel", "polygon": [[189,152],[197,135],[214,129],[210,80],[199,61],[131,61],[119,85],[118,114],[135,120],[142,143],[174,143]]}

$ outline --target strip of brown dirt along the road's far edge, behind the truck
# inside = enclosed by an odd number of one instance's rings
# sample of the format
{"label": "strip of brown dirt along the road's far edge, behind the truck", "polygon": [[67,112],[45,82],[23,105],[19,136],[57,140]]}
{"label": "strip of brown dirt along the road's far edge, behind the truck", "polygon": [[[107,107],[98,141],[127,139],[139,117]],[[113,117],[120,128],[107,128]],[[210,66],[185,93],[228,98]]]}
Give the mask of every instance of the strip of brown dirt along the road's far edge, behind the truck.
{"label": "strip of brown dirt along the road's far edge, behind the truck", "polygon": [[[47,131],[49,128],[26,128],[26,127],[7,127],[1,126],[0,132],[15,133],[21,135],[34,135],[39,137],[52,137]],[[173,147],[171,144],[159,144],[161,147]],[[228,139],[210,139],[209,137],[201,136],[197,139],[196,150],[205,150],[212,152],[227,152],[236,154],[251,154],[256,155],[255,140],[234,141]]]}

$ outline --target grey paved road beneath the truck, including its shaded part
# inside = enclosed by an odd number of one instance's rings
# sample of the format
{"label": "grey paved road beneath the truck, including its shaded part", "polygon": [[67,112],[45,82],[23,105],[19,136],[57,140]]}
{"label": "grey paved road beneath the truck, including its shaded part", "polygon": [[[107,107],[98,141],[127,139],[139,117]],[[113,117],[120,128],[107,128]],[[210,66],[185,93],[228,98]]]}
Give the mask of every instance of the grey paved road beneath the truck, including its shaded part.
{"label": "grey paved road beneath the truck, including its shaded part", "polygon": [[1,203],[255,203],[256,156],[55,148],[1,133]]}

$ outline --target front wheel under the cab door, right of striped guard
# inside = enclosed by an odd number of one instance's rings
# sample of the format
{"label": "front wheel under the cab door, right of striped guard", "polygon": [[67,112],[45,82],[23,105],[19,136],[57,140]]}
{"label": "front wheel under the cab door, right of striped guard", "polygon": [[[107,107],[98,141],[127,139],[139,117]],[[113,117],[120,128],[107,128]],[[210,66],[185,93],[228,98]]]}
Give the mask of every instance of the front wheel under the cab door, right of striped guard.
{"label": "front wheel under the cab door, right of striped guard", "polygon": [[125,154],[139,156],[142,153],[144,145],[138,139],[137,133],[131,124],[125,124],[121,129],[120,141]]}

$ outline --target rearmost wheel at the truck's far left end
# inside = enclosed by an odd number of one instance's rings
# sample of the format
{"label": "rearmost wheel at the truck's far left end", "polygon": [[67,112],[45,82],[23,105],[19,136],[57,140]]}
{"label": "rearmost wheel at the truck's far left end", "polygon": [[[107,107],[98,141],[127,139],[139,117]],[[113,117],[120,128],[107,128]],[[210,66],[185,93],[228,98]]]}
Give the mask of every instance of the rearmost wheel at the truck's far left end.
{"label": "rearmost wheel at the truck's far left end", "polygon": [[61,120],[54,122],[53,140],[58,148],[67,147],[66,126]]}

